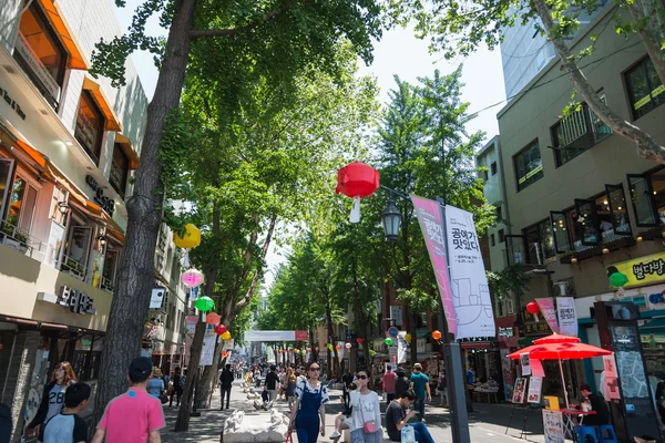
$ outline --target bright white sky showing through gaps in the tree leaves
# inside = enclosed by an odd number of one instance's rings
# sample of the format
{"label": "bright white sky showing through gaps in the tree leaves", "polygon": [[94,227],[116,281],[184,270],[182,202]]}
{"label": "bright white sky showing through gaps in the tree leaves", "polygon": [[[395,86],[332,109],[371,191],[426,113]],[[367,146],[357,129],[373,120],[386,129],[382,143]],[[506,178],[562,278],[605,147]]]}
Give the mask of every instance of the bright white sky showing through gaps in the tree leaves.
{"label": "bright white sky showing through gaps in the tree leaves", "polygon": [[[133,10],[143,0],[127,0],[125,8],[116,8],[117,19],[123,29],[132,22]],[[147,33],[151,35],[165,35],[165,30],[160,28],[155,17],[147,22]],[[141,83],[149,100],[152,99],[157,81],[157,70],[153,64],[152,55],[135,53],[132,55],[134,65],[139,71]],[[447,61],[441,54],[430,54],[428,42],[418,40],[412,30],[395,29],[386,31],[381,41],[375,42],[374,63],[366,66],[361,63],[359,74],[372,74],[377,78],[380,87],[380,101],[388,101],[388,92],[395,87],[393,76],[398,75],[402,81],[416,83],[419,76],[431,76],[434,69],[442,73],[454,71],[460,62],[462,70],[462,100],[470,103],[471,113],[484,110],[487,106],[502,103],[505,100],[503,86],[503,72],[501,68],[501,53],[499,50],[489,51],[481,49],[466,60]],[[485,140],[498,134],[497,113],[502,104],[493,106],[479,113],[478,117],[467,125],[469,133],[483,131]],[[273,282],[273,270],[285,261],[284,250],[282,255],[275,248],[270,248],[266,257],[268,269],[265,276],[265,288]]]}

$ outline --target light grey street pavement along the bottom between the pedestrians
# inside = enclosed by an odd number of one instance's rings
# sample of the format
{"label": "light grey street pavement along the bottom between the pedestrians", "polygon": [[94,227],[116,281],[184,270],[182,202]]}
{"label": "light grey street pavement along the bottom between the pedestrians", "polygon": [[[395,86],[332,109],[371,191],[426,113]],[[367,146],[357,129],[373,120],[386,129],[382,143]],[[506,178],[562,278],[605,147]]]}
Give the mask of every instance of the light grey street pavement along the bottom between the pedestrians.
{"label": "light grey street pavement along the bottom between the pedestrians", "polygon": [[[319,442],[329,442],[329,435],[332,433],[335,424],[335,415],[341,411],[341,402],[339,395],[341,391],[329,390],[330,403],[326,406],[326,436],[319,437]],[[432,404],[438,399],[432,399]],[[288,414],[288,406],[283,400],[275,402],[278,411]],[[224,421],[235,410],[244,410],[247,412],[255,411],[254,400],[247,400],[243,392],[239,381],[234,383],[231,391],[231,409],[219,410],[219,390],[213,394],[213,400],[209,410],[201,410],[201,416],[193,416],[190,421],[190,431],[173,432],[175,420],[177,418],[177,408],[164,406],[164,416],[166,426],[162,431],[162,441],[165,443],[176,442],[201,442],[201,443],[219,443],[219,434],[224,427]],[[381,403],[381,410],[385,411],[386,404]],[[474,403],[473,412],[469,414],[469,433],[471,442],[544,442],[542,420],[538,410],[514,410],[510,404],[484,404]],[[262,414],[268,420],[268,412],[262,411]],[[510,426],[507,426],[510,421]],[[383,422],[385,424],[385,422]],[[450,415],[447,409],[437,405],[429,405],[426,411],[426,424],[437,443],[452,442],[450,431]],[[525,432],[522,433],[523,425]],[[521,437],[520,437],[521,436]],[[298,439],[294,433],[294,442]],[[385,441],[388,441],[387,439]]]}

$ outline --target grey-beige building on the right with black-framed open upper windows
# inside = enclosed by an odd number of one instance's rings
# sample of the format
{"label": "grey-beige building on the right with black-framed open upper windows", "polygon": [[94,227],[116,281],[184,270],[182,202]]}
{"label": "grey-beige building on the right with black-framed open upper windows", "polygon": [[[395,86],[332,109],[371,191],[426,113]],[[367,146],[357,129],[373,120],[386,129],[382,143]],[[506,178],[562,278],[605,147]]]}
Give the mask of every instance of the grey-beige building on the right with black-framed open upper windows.
{"label": "grey-beige building on the right with black-framed open upper windows", "polygon": [[[665,85],[638,37],[617,35],[605,25],[615,12],[607,4],[570,44],[579,51],[592,32],[598,34],[583,62],[591,84],[621,117],[663,145]],[[522,264],[531,276],[522,306],[573,297],[579,336],[597,346],[590,309],[595,300],[634,301],[643,323],[665,315],[657,296],[665,290],[665,168],[640,157],[634,143],[614,134],[584,103],[562,119],[572,90],[557,63],[550,62],[498,115],[511,226],[503,253],[507,265]],[[622,289],[608,281],[617,271],[626,277]],[[546,321],[523,308],[519,318],[521,346],[551,333]],[[665,370],[663,337],[665,328],[651,323],[641,337],[626,339],[644,344],[649,374]],[[582,381],[597,382],[603,364],[595,360],[566,363],[569,394],[576,395]]]}

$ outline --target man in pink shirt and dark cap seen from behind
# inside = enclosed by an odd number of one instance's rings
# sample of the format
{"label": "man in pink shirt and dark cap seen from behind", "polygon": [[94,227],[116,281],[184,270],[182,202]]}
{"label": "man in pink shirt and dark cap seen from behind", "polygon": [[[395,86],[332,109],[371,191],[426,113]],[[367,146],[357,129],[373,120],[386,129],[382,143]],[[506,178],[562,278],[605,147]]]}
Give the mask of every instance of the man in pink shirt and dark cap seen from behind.
{"label": "man in pink shirt and dark cap seen from behind", "polygon": [[127,374],[130,390],[109,402],[91,443],[162,442],[162,404],[160,399],[151,396],[146,391],[152,371],[152,362],[146,357],[132,361]]}

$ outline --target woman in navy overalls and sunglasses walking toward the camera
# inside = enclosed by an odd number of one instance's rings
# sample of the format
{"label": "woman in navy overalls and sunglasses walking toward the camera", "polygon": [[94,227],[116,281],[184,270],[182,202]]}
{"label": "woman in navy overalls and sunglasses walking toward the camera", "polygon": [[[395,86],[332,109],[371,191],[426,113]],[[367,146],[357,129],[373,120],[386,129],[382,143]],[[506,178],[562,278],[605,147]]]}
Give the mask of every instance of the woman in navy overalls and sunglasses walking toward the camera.
{"label": "woman in navy overalls and sunglasses walking toward the camera", "polygon": [[318,433],[326,436],[326,403],[328,390],[319,381],[317,362],[307,367],[307,379],[296,384],[296,402],[290,412],[289,430],[296,429],[299,443],[316,443]]}

